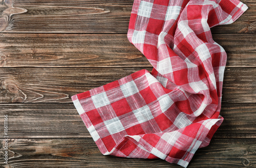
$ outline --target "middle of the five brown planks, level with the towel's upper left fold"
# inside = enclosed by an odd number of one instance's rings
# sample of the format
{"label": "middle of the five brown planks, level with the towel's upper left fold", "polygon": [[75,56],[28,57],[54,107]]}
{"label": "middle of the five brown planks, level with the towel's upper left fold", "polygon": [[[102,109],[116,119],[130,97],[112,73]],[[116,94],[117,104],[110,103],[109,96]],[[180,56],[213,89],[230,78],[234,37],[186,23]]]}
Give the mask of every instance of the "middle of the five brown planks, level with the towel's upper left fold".
{"label": "middle of the five brown planks, level with the towel's upper left fold", "polygon": [[[141,69],[0,68],[0,103],[72,102],[72,95],[113,82]],[[255,103],[255,79],[255,68],[226,68],[222,101]]]}

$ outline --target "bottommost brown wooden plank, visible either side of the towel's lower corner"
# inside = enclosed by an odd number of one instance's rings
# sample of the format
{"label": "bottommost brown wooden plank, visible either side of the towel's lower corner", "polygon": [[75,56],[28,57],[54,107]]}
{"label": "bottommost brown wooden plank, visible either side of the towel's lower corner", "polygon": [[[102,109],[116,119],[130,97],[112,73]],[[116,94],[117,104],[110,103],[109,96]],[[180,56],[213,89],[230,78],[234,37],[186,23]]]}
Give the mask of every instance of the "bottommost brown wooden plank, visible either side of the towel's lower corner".
{"label": "bottommost brown wooden plank, visible either side of the towel's lower corner", "polygon": [[[104,156],[92,138],[9,139],[8,143],[10,159],[8,164],[1,161],[3,167],[180,167],[162,159]],[[255,145],[254,138],[213,138],[196,152],[189,167],[255,167]]]}

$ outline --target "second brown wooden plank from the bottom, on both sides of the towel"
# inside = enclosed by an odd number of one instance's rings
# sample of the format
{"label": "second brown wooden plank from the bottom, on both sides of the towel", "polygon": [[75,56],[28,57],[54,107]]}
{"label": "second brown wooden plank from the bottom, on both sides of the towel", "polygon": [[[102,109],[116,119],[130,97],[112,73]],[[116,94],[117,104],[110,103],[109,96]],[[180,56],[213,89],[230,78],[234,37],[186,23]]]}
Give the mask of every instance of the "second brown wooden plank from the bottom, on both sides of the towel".
{"label": "second brown wooden plank from the bottom, on both sides of the towel", "polygon": [[[8,115],[9,138],[91,137],[73,103],[0,104],[0,109],[0,116]],[[221,115],[216,138],[256,138],[255,103],[223,103]]]}

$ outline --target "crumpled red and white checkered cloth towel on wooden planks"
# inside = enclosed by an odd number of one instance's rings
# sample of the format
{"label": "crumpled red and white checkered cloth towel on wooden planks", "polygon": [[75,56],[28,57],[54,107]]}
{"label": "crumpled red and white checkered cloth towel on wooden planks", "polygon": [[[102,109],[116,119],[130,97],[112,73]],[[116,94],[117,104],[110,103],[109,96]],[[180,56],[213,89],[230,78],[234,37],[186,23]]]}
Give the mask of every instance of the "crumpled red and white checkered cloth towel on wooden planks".
{"label": "crumpled red and white checkered cloth towel on wooden planks", "polygon": [[143,69],[72,97],[101,153],[186,167],[223,121],[226,53],[210,28],[246,9],[238,0],[135,0],[127,37],[152,73]]}

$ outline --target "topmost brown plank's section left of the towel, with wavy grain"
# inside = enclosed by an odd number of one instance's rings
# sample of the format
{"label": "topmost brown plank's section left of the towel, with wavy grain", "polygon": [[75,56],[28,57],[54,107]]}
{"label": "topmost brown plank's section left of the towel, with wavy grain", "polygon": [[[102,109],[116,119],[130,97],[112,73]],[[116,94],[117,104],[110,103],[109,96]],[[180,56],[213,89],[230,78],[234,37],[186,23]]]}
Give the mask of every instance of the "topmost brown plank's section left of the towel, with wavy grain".
{"label": "topmost brown plank's section left of the towel, with wavy grain", "polygon": [[12,0],[13,7],[27,12],[9,15],[3,32],[124,33],[132,5],[133,1]]}

